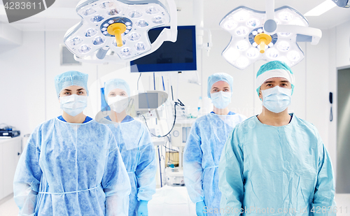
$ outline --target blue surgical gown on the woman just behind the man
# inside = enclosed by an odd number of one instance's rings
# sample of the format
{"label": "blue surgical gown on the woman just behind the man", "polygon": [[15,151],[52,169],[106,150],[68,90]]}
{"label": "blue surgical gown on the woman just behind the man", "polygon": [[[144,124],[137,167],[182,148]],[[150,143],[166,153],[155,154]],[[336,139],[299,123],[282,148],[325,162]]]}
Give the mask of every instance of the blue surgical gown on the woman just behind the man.
{"label": "blue surgical gown on the woman just behind the man", "polygon": [[[193,203],[204,201],[208,215],[220,215],[221,192],[218,189],[218,164],[223,147],[233,128],[244,115],[209,113],[193,124],[183,154],[183,175]],[[206,212],[206,210],[204,210]]]}

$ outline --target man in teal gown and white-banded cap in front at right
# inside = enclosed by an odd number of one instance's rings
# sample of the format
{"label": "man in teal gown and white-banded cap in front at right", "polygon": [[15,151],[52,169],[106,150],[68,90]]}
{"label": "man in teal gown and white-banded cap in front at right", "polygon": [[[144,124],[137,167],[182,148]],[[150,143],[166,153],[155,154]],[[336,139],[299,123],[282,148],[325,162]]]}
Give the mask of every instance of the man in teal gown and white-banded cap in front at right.
{"label": "man in teal gown and white-banded cap in front at right", "polygon": [[313,124],[288,114],[294,83],[284,62],[260,67],[262,113],[235,127],[221,156],[222,215],[335,215],[328,152]]}

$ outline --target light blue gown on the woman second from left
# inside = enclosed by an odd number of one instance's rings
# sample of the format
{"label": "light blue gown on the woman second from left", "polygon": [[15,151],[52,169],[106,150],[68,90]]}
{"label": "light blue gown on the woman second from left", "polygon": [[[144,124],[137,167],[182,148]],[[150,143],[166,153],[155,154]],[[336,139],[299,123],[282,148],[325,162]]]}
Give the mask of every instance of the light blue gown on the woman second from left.
{"label": "light blue gown on the woman second from left", "polygon": [[[107,120],[111,120],[107,117]],[[106,122],[116,137],[132,185],[129,216],[137,215],[139,201],[150,201],[155,194],[157,162],[155,147],[147,127],[130,115],[120,123]],[[109,123],[109,124],[108,124]],[[114,123],[114,124],[113,124]]]}

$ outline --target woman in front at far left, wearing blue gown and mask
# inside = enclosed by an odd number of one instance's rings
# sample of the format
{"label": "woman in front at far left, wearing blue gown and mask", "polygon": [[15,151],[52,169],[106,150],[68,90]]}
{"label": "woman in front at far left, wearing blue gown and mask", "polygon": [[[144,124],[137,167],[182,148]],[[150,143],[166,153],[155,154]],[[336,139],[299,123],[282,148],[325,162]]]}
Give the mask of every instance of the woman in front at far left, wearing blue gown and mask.
{"label": "woman in front at far left, wearing blue gown and mask", "polygon": [[55,77],[63,114],[29,137],[14,179],[19,215],[127,215],[130,181],[111,130],[84,115],[87,74]]}

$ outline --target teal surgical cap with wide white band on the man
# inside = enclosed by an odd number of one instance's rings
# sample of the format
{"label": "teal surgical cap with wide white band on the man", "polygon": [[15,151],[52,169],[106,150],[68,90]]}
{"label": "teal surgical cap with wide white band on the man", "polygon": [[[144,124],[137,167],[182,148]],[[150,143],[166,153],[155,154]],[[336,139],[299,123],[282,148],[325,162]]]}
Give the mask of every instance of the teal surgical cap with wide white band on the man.
{"label": "teal surgical cap with wide white band on the man", "polygon": [[284,63],[279,61],[272,61],[267,62],[266,64],[262,65],[256,73],[256,92],[260,92],[260,86],[269,78],[286,78],[290,84],[292,85],[292,94],[294,91],[294,75],[290,67]]}

